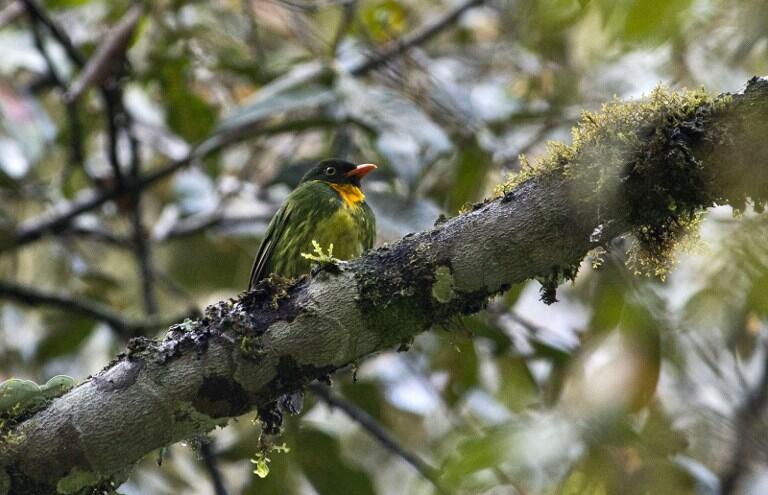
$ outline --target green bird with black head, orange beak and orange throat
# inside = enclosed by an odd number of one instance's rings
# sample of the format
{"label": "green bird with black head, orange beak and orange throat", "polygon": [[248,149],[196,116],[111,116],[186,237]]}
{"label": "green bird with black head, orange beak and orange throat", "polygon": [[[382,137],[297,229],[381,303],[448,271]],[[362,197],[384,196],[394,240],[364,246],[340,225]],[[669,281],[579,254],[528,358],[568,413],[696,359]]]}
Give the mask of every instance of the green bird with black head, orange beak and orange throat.
{"label": "green bird with black head, orange beak and orange throat", "polygon": [[251,270],[248,290],[272,273],[296,278],[309,273],[302,253],[333,244],[333,256],[348,260],[373,247],[376,217],[365,202],[360,180],[376,165],[324,160],[304,175],[272,217]]}

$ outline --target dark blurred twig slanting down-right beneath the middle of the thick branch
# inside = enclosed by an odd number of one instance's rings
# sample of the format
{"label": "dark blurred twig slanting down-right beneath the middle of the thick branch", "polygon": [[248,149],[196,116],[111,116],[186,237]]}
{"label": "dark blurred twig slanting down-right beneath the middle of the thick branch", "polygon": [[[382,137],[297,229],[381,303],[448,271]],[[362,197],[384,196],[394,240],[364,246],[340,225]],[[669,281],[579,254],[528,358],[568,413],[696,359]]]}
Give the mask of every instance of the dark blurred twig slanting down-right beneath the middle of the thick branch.
{"label": "dark blurred twig slanting down-right beneath the middle of the thick branch", "polygon": [[332,408],[340,409],[344,414],[349,416],[350,419],[362,426],[365,431],[379,441],[382,447],[413,466],[419,474],[435,486],[438,492],[450,493],[450,491],[440,483],[440,473],[437,469],[427,464],[416,454],[408,452],[394,437],[392,437],[392,435],[384,430],[370,414],[357,407],[355,404],[333,394],[325,385],[313,383],[310,384],[308,388],[323,402]]}

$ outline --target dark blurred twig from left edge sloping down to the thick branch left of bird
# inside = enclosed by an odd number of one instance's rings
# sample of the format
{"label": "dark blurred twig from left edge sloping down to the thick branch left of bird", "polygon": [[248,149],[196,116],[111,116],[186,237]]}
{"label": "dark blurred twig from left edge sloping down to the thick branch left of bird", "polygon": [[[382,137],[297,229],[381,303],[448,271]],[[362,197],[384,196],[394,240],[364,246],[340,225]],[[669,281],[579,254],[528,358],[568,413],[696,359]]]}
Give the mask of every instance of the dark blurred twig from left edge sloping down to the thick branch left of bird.
{"label": "dark blurred twig from left edge sloping down to the thick branch left of bird", "polygon": [[166,326],[167,322],[179,321],[178,316],[166,320],[147,319],[132,321],[103,304],[87,299],[27,287],[15,282],[0,280],[0,299],[15,301],[28,306],[53,306],[65,311],[103,321],[123,337],[141,335],[147,330]]}

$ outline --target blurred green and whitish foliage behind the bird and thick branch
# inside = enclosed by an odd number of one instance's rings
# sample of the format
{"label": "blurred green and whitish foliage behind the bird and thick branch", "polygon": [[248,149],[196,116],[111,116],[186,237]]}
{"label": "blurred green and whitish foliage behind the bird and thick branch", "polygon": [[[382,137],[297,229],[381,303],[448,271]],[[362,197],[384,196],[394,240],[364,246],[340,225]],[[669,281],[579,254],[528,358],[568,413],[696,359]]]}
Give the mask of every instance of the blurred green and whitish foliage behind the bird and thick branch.
{"label": "blurred green and whitish foliage behind the bird and thick branch", "polygon": [[[380,164],[366,193],[383,243],[489,194],[583,109],[768,72],[765,0],[475,1],[402,56],[388,50],[456,4],[159,0],[100,89],[65,104],[83,71],[24,3],[0,2],[0,379],[85,378],[129,337],[243,290],[271,214],[321,158]],[[87,60],[132,2],[41,5]],[[141,194],[14,237],[168,163]],[[766,238],[764,215],[714,208],[666,280],[633,276],[621,240],[553,306],[513,287],[338,376],[399,454],[308,394],[266,479],[246,416],[215,432],[215,461],[190,439],[120,492],[210,493],[216,464],[229,493],[259,495],[764,493]]]}

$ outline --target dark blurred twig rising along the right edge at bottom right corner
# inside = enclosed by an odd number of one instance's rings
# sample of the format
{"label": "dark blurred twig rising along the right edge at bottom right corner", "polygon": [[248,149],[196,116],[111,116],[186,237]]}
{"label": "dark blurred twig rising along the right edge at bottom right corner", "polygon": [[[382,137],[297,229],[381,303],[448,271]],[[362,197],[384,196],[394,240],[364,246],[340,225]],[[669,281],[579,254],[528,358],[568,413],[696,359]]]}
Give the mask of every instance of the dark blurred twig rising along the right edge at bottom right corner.
{"label": "dark blurred twig rising along the right edge at bottom right corner", "polygon": [[768,403],[768,343],[763,344],[763,350],[766,355],[760,380],[749,393],[747,400],[736,416],[736,449],[729,468],[720,478],[721,495],[737,493],[739,481],[751,459],[750,450],[754,444],[755,424],[760,422],[766,403]]}

